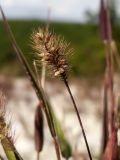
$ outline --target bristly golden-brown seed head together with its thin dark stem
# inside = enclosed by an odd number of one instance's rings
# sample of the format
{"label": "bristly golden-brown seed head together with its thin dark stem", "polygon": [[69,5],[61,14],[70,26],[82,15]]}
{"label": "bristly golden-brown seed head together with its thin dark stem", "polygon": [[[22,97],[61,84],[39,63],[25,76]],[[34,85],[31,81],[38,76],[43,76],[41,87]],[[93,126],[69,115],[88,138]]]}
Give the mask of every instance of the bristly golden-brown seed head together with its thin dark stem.
{"label": "bristly golden-brown seed head together with its thin dark stem", "polygon": [[34,31],[31,35],[31,41],[37,61],[46,62],[46,64],[52,68],[54,76],[60,76],[63,80],[77,114],[89,158],[92,160],[83,124],[67,80],[68,64],[66,59],[72,51],[69,44],[66,43],[62,37],[57,37],[53,33],[50,33],[49,30],[45,29],[38,29],[37,31]]}

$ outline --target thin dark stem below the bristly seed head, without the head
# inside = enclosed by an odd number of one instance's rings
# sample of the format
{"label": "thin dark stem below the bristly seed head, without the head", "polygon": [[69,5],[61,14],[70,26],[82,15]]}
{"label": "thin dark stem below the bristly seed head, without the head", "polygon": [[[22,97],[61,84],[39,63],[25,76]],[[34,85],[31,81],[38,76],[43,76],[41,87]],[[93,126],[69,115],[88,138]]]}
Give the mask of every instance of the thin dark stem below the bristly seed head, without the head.
{"label": "thin dark stem below the bristly seed head, without the head", "polygon": [[92,160],[91,152],[90,152],[89,145],[88,145],[87,138],[86,138],[86,134],[85,134],[85,131],[84,131],[84,128],[83,128],[82,120],[81,120],[81,117],[79,115],[79,111],[77,109],[77,105],[75,103],[75,100],[74,100],[74,97],[72,95],[71,89],[70,89],[70,87],[68,85],[66,76],[64,74],[61,74],[61,77],[62,77],[62,79],[64,81],[64,84],[65,84],[65,86],[66,86],[66,88],[67,88],[67,90],[69,92],[70,97],[71,97],[75,112],[76,112],[78,120],[79,120],[80,127],[82,129],[82,134],[83,134],[83,137],[84,137],[84,140],[85,140],[85,144],[86,144],[86,148],[87,148],[87,151],[88,151],[88,155],[89,155],[90,160]]}

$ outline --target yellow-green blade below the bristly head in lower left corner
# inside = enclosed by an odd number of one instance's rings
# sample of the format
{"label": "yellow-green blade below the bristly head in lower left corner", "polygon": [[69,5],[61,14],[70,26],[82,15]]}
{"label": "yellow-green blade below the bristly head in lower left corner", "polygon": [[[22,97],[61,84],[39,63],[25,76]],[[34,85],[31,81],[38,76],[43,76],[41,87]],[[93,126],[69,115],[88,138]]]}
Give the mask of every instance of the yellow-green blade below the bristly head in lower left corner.
{"label": "yellow-green blade below the bristly head in lower left corner", "polygon": [[23,160],[7,137],[1,140],[1,144],[8,160]]}

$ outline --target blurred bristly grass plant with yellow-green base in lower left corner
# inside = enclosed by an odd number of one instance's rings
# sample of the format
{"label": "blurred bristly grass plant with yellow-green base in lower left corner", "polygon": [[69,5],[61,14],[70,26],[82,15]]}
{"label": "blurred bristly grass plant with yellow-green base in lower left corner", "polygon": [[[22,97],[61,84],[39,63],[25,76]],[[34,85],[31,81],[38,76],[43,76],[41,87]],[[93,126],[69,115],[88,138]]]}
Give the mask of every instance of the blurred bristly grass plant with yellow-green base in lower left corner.
{"label": "blurred bristly grass plant with yellow-green base in lower left corner", "polygon": [[5,114],[5,98],[0,93],[0,143],[8,160],[23,160],[15,148],[12,136],[10,136],[10,128],[6,122]]}

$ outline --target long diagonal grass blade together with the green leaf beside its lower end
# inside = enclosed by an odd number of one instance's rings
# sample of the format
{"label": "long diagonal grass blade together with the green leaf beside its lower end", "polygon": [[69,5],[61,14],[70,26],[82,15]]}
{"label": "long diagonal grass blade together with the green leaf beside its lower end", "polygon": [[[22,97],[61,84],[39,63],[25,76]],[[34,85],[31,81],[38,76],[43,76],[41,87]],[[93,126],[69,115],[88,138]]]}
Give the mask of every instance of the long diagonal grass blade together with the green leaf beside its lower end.
{"label": "long diagonal grass blade together with the green leaf beside its lower end", "polygon": [[[0,11],[2,13],[4,26],[7,31],[7,35],[10,39],[10,42],[13,46],[13,49],[14,49],[18,59],[20,60],[21,65],[24,67],[24,69],[30,79],[31,84],[36,91],[36,94],[38,96],[39,101],[40,102],[42,101],[42,109],[45,112],[48,126],[50,129],[50,133],[53,137],[53,141],[54,141],[55,149],[56,149],[56,154],[57,154],[57,159],[60,160],[59,142],[58,142],[57,134],[59,137],[59,141],[61,142],[60,147],[62,148],[61,149],[62,156],[65,158],[70,158],[72,155],[71,146],[70,146],[69,142],[66,140],[64,133],[59,125],[59,122],[58,122],[54,112],[53,111],[51,112],[51,109],[52,109],[51,104],[50,104],[48,98],[46,98],[45,92],[39,83],[38,77],[36,77],[36,75],[34,74],[34,72],[31,69],[30,65],[28,64],[23,52],[21,51],[21,49],[17,45],[17,42],[16,42],[14,35],[10,29],[10,26],[6,20],[6,17],[5,17],[3,10],[2,10],[2,7],[0,7]],[[53,115],[54,115],[54,120],[52,117]],[[57,133],[56,133],[55,125],[58,125],[58,126],[56,126]],[[64,137],[64,141],[63,141],[63,137]],[[68,152],[68,150],[69,150],[69,152]]]}

